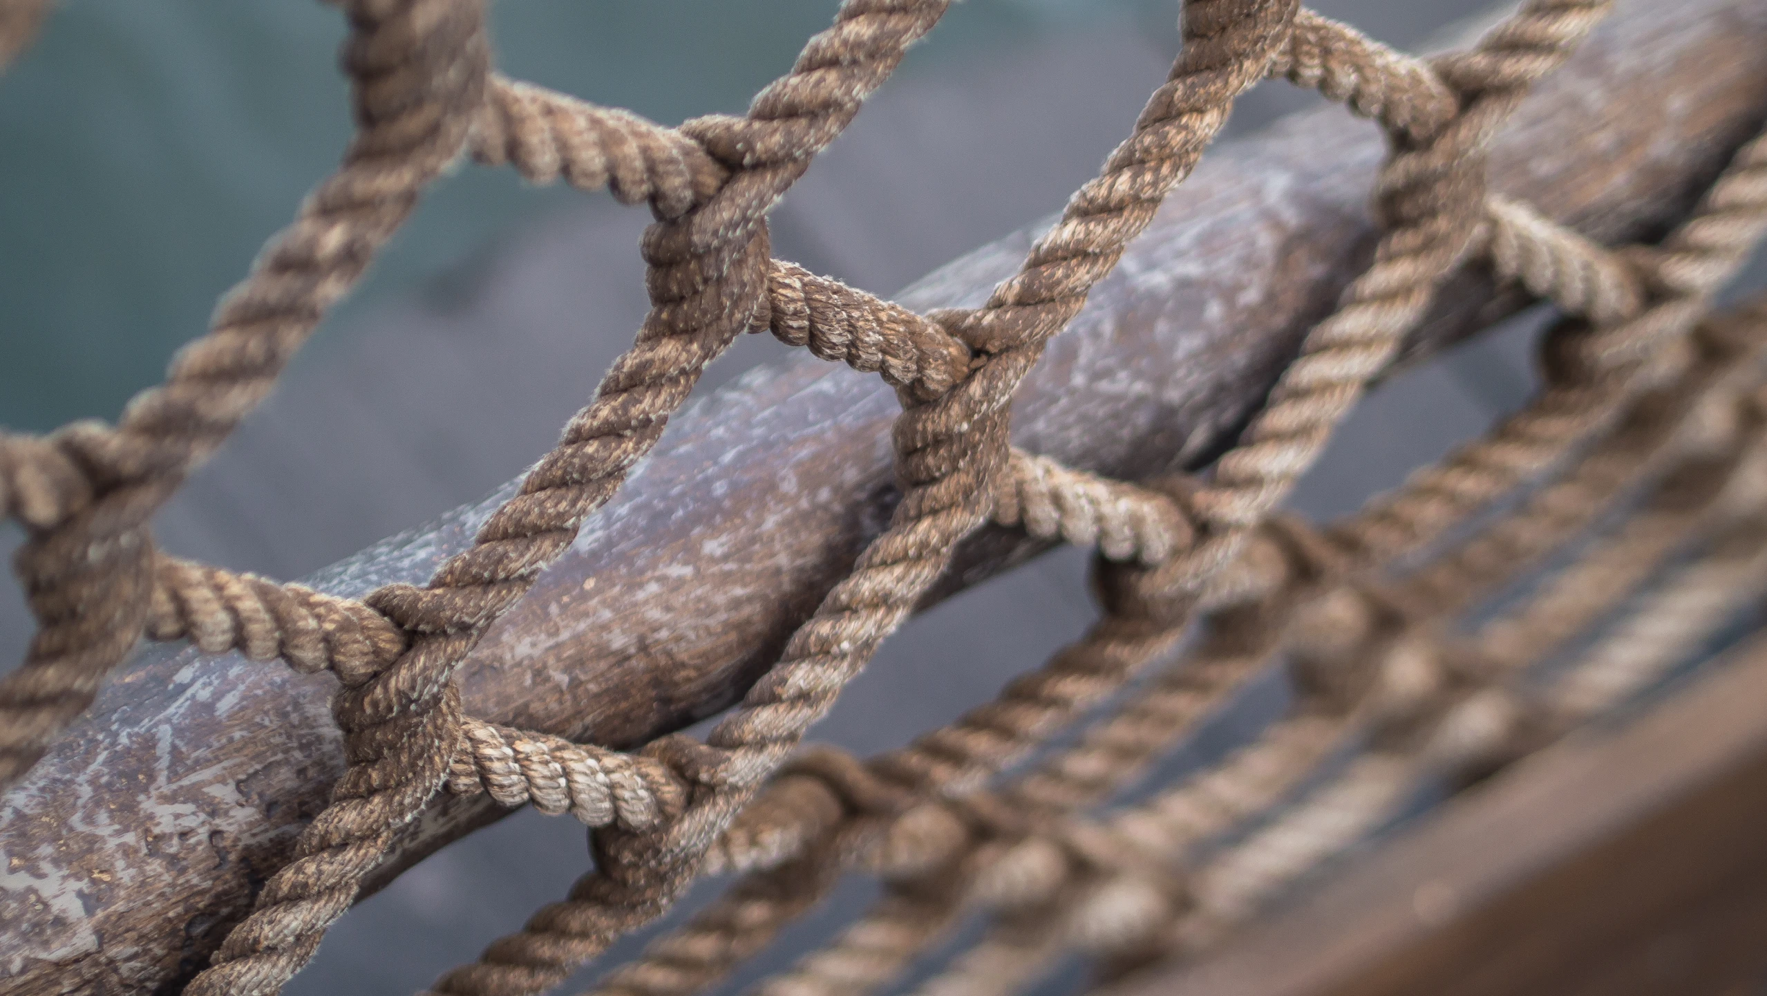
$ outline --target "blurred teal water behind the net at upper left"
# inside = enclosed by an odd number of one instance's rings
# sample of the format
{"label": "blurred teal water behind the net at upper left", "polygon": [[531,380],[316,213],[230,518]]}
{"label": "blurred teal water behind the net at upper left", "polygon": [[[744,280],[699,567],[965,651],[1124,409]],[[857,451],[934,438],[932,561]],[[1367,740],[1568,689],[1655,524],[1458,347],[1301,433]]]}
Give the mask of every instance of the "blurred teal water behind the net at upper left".
{"label": "blurred teal water behind the net at upper left", "polygon": [[[1173,34],[1175,4],[968,0],[903,74],[1074,21]],[[834,0],[498,0],[500,67],[661,122],[740,111]],[[113,419],[336,164],[343,18],[311,0],[65,0],[0,76],[0,426]],[[311,353],[565,198],[507,170],[438,184]]]}

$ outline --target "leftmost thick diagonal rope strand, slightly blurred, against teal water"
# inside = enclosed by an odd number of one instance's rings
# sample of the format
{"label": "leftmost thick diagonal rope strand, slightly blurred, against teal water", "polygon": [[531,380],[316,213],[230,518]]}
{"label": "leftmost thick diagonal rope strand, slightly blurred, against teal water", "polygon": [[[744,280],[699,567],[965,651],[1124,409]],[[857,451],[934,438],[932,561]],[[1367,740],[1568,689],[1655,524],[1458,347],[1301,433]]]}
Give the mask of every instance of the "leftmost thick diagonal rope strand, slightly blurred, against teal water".
{"label": "leftmost thick diagonal rope strand, slightly blurred, against teal water", "polygon": [[[154,563],[147,519],[270,392],[465,143],[489,60],[477,0],[360,0],[346,11],[357,136],[343,166],[223,297],[209,336],[178,351],[163,385],[138,394],[115,429],[60,433],[55,466],[35,472],[64,479],[72,466],[87,486],[57,487],[74,500],[58,509],[44,502],[51,491],[32,491],[34,532],[14,569],[39,630],[25,666],[0,682],[0,786],[85,712],[140,638]],[[18,493],[32,475],[18,464],[46,449],[7,443],[0,464],[14,470],[0,491]]]}

